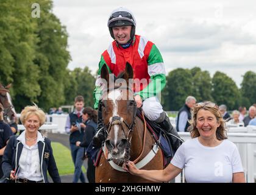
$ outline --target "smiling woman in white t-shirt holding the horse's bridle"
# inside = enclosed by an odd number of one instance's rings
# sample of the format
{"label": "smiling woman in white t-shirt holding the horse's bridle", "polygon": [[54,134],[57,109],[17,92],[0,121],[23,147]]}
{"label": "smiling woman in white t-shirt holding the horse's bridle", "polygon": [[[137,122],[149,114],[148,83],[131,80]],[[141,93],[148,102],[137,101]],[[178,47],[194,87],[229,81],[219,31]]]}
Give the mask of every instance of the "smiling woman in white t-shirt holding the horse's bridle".
{"label": "smiling woman in white t-shirt holding the horse's bridle", "polygon": [[137,169],[132,161],[124,170],[153,182],[168,182],[185,169],[187,182],[245,182],[235,144],[227,140],[225,122],[213,102],[196,104],[190,121],[191,140],[185,141],[163,170]]}

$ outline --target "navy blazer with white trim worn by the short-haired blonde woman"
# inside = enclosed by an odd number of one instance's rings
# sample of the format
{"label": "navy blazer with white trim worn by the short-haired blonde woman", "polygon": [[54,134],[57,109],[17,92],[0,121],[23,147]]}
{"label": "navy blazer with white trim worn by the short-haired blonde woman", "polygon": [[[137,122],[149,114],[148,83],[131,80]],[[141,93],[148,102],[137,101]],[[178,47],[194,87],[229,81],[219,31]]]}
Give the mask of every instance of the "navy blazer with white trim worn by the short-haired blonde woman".
{"label": "navy blazer with white trim worn by the short-haired blonde woman", "polygon": [[[15,135],[10,137],[2,157],[2,171],[7,178],[10,178],[10,172],[18,166],[23,150],[23,144],[16,140],[17,137]],[[44,138],[44,141],[38,141],[38,151],[44,183],[49,182],[47,171],[54,183],[60,183],[59,171],[52,154],[51,141],[48,138]]]}

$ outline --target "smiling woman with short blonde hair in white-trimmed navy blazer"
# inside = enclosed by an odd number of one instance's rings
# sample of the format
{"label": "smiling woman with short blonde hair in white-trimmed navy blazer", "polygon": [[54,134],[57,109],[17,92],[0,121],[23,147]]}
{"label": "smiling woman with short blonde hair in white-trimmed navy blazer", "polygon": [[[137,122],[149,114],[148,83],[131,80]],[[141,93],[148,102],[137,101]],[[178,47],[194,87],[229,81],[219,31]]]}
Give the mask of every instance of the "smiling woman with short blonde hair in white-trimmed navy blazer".
{"label": "smiling woman with short blonde hair in white-trimmed navy blazer", "polygon": [[27,106],[20,119],[25,130],[10,137],[2,160],[4,176],[18,183],[47,183],[48,171],[53,182],[60,182],[51,141],[38,132],[46,120],[43,110]]}

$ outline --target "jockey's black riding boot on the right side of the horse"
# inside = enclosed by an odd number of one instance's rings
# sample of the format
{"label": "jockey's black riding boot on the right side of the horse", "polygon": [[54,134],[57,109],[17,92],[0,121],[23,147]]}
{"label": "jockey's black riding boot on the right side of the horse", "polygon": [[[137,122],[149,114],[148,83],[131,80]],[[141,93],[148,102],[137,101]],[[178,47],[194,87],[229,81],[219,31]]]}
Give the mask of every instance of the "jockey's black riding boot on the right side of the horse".
{"label": "jockey's black riding boot on the right side of the horse", "polygon": [[174,150],[175,153],[178,147],[183,143],[183,140],[180,138],[175,127],[172,126],[167,113],[162,112],[160,117],[155,122],[157,122],[157,124],[159,124],[160,127],[163,128],[163,130],[165,130],[166,135],[168,136],[169,141],[171,142],[172,149]]}

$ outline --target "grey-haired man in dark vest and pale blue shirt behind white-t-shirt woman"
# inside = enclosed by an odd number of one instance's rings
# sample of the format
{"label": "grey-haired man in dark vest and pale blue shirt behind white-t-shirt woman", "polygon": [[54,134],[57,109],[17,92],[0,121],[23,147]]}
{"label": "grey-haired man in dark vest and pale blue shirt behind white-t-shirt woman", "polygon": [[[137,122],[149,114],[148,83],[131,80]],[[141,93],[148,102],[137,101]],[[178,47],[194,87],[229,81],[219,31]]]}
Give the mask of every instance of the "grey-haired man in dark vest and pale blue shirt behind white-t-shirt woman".
{"label": "grey-haired man in dark vest and pale blue shirt behind white-t-shirt woman", "polygon": [[191,108],[196,104],[196,98],[193,96],[188,96],[186,98],[185,104],[180,108],[176,129],[178,132],[187,132],[190,123],[188,122],[191,119]]}

